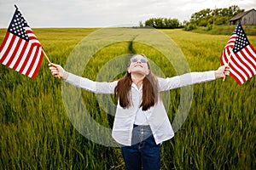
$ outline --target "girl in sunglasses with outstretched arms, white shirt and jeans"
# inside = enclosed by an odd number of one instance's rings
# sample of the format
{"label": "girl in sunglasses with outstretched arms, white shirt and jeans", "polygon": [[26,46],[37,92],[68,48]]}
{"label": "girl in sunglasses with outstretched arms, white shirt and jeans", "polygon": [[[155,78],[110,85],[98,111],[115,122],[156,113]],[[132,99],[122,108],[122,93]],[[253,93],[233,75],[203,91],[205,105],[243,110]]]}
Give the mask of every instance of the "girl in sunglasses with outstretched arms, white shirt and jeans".
{"label": "girl in sunglasses with outstretched arms, white shirt and jeans", "polygon": [[[94,82],[50,63],[54,77],[97,94],[115,94],[118,99],[112,136],[121,144],[127,170],[160,169],[160,144],[174,132],[160,99],[160,92],[208,82],[230,75],[228,66],[217,71],[191,72],[171,78],[155,77],[143,54],[131,57],[125,76],[114,82]],[[189,81],[190,80],[190,81]]]}

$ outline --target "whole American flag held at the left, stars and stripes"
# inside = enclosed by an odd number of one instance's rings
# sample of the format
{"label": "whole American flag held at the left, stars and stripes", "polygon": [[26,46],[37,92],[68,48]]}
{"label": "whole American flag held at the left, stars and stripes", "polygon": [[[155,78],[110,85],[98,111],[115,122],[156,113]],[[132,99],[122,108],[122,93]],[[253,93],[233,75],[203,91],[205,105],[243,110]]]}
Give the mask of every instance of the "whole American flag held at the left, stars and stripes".
{"label": "whole American flag held at the left, stars and stripes", "polygon": [[16,8],[0,46],[0,63],[34,78],[39,71],[43,55],[38,38]]}

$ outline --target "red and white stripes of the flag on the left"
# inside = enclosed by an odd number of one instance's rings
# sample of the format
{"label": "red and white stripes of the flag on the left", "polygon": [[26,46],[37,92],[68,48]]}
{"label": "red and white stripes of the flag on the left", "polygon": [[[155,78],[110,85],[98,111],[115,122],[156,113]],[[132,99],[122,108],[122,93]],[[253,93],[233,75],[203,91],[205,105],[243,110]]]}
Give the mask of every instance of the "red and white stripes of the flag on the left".
{"label": "red and white stripes of the flag on the left", "polygon": [[[40,44],[38,40],[33,43]],[[7,32],[0,47],[0,62],[27,77],[34,78],[42,63],[43,52],[38,45],[26,42]]]}

